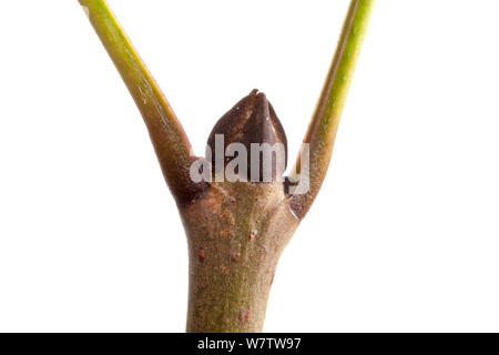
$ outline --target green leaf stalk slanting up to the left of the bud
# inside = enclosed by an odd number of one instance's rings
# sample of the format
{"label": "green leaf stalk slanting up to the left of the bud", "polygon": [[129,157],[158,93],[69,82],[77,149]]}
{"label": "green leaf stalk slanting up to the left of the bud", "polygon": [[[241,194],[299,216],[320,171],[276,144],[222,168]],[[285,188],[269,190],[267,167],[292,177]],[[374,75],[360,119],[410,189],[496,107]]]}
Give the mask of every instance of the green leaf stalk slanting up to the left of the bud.
{"label": "green leaf stalk slanting up to the left of the bud", "polygon": [[180,203],[192,200],[203,186],[191,183],[191,144],[175,113],[106,2],[79,1],[145,121],[172,194]]}

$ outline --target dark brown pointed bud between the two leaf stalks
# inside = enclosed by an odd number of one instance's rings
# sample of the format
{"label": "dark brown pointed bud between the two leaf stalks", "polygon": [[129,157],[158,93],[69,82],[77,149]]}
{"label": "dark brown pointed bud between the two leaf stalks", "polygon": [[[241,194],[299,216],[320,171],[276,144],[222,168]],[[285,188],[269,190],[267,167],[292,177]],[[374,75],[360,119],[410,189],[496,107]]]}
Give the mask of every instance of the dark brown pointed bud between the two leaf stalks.
{"label": "dark brown pointed bud between the two leaf stalks", "polygon": [[[223,136],[223,152],[217,151],[221,150],[216,146],[217,134]],[[241,143],[246,150],[246,172],[241,165],[234,170],[240,178],[252,182],[274,182],[282,178],[287,165],[286,133],[263,92],[253,90],[216,122],[207,140],[211,154],[206,153],[213,173],[220,174],[231,161],[243,158],[238,151],[234,156],[225,156],[231,143]]]}

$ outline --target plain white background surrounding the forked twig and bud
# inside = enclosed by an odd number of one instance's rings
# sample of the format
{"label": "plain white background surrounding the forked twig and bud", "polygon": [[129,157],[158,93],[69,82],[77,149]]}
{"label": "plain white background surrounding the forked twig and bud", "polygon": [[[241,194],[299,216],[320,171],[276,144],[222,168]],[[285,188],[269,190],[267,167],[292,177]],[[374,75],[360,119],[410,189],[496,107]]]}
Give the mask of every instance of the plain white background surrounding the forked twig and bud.
{"label": "plain white background surrounding the forked twig and bud", "polygon": [[[198,154],[257,88],[294,160],[347,0],[110,6]],[[498,11],[377,2],[265,331],[499,331]],[[183,332],[183,229],[78,1],[4,2],[0,40],[0,331]]]}

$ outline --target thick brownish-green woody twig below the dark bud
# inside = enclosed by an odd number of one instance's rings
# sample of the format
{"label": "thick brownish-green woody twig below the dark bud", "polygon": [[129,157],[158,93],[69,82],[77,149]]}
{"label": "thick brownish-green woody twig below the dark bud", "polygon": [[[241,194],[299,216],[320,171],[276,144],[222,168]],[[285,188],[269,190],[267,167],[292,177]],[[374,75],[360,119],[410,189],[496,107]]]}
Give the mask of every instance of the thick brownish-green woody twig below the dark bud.
{"label": "thick brownish-green woody twig below the dark bud", "polygon": [[180,205],[187,332],[261,332],[277,261],[298,226],[282,183],[213,183]]}

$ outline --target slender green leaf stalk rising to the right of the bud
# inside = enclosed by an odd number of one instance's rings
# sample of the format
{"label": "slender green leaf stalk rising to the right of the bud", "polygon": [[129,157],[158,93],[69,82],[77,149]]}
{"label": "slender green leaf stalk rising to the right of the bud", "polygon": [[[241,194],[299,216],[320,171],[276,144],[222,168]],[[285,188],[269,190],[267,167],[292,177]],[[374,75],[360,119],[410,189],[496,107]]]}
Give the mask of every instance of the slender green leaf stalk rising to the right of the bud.
{"label": "slender green leaf stalk rising to the right of the bud", "polygon": [[[314,202],[329,165],[342,112],[354,77],[360,47],[375,0],[352,0],[342,37],[326,78],[319,101],[312,118],[304,143],[309,144],[309,190],[291,199],[294,213],[303,219]],[[298,156],[291,179],[301,179]]]}

